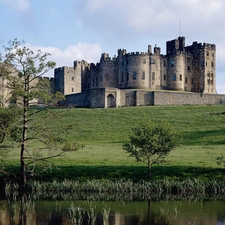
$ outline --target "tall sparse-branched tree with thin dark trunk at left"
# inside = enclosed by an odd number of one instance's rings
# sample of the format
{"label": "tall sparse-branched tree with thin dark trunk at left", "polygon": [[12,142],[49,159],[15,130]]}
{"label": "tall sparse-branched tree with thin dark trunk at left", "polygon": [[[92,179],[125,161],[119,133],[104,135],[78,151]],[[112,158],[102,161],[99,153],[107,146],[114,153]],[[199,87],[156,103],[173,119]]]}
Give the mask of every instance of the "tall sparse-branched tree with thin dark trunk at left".
{"label": "tall sparse-branched tree with thin dark trunk at left", "polygon": [[[3,93],[0,101],[2,107],[13,105],[16,114],[9,114],[3,121],[0,120],[0,137],[3,140],[6,131],[10,130],[11,140],[20,146],[20,181],[23,186],[28,174],[35,175],[39,162],[46,163],[53,157],[61,156],[67,149],[66,140],[54,127],[53,118],[59,120],[59,115],[47,107],[56,106],[64,96],[60,93],[51,94],[49,79],[42,77],[56,65],[55,62],[47,61],[49,53],[42,53],[41,50],[34,52],[17,39],[9,41],[4,50],[4,55],[0,57]],[[31,108],[40,102],[41,108]],[[9,112],[10,107],[7,110]],[[10,129],[6,129],[8,127]],[[65,127],[65,132],[68,129]],[[63,145],[63,150],[58,149],[58,146]],[[71,149],[77,150],[77,146],[70,146]]]}

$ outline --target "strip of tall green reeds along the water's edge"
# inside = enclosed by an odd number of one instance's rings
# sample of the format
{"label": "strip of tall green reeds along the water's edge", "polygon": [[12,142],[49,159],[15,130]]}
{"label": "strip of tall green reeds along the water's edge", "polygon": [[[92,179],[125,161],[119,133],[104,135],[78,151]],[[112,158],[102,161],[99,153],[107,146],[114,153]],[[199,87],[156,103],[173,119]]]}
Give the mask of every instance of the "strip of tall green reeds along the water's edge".
{"label": "strip of tall green reeds along the water's edge", "polygon": [[[19,185],[7,183],[7,199],[19,200]],[[32,200],[92,200],[92,201],[160,201],[160,200],[225,200],[225,180],[165,178],[157,181],[140,180],[64,180],[62,182],[28,182],[26,199]]]}

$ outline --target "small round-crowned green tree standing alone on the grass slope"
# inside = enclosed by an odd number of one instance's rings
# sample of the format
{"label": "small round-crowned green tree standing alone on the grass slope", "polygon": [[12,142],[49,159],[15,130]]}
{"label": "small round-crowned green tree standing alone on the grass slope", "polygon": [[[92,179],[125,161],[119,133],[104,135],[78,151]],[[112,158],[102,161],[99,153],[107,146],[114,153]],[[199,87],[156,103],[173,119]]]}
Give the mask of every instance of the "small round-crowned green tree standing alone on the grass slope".
{"label": "small round-crowned green tree standing alone on the grass slope", "polygon": [[132,129],[130,141],[123,145],[123,150],[148,166],[148,178],[151,178],[151,166],[162,163],[177,144],[177,135],[167,122],[153,123],[143,118]]}

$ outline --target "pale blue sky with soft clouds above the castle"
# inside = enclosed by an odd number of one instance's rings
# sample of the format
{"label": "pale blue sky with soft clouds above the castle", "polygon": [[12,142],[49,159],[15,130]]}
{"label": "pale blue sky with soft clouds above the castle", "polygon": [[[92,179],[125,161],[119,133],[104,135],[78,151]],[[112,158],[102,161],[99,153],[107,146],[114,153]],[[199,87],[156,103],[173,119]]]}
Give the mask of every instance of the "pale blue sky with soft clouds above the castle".
{"label": "pale blue sky with soft clouds above the castle", "polygon": [[225,0],[0,0],[0,12],[0,46],[24,40],[50,53],[56,67],[148,45],[166,54],[166,41],[178,36],[186,45],[215,44],[216,89],[225,94]]}

